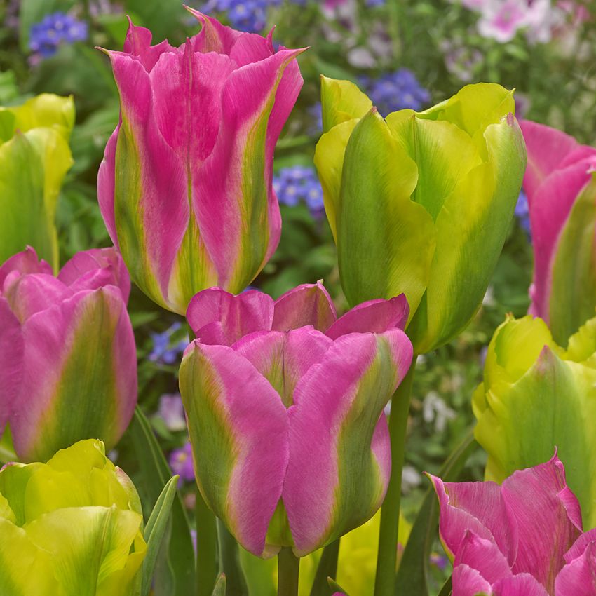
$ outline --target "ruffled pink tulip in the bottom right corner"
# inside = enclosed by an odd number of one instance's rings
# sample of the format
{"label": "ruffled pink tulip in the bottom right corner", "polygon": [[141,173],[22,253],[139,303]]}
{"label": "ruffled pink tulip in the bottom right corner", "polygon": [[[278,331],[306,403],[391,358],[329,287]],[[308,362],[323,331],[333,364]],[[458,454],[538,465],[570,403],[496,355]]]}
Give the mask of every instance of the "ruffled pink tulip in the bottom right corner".
{"label": "ruffled pink tulip in the bottom right corner", "polygon": [[501,486],[429,478],[453,596],[596,596],[596,529],[582,531],[556,454]]}

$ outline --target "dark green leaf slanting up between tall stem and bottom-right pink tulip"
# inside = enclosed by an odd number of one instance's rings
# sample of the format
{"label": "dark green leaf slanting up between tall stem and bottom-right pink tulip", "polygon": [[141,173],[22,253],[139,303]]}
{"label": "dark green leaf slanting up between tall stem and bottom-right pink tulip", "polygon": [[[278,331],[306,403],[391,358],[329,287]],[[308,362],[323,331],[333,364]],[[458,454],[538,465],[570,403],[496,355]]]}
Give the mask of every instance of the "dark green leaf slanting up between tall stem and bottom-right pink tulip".
{"label": "dark green leaf slanting up between tall stem and bottom-right pink tulip", "polygon": [[[466,437],[449,455],[443,464],[440,478],[445,482],[456,482],[463,466],[474,449],[478,447],[470,428]],[[416,516],[416,521],[409,534],[398,575],[395,579],[395,594],[408,596],[428,596],[428,564],[431,548],[437,536],[439,508],[435,492],[430,487]]]}

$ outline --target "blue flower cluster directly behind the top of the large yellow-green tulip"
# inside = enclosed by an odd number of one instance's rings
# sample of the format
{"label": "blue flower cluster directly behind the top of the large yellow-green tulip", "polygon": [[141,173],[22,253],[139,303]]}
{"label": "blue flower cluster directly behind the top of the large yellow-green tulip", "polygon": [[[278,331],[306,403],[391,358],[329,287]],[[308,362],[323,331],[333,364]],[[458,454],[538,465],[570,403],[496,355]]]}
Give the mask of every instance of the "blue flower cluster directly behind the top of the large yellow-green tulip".
{"label": "blue flower cluster directly behind the top of the large yellow-green tulip", "polygon": [[363,77],[360,83],[383,116],[398,109],[418,111],[431,100],[431,94],[407,68],[383,74],[379,79]]}

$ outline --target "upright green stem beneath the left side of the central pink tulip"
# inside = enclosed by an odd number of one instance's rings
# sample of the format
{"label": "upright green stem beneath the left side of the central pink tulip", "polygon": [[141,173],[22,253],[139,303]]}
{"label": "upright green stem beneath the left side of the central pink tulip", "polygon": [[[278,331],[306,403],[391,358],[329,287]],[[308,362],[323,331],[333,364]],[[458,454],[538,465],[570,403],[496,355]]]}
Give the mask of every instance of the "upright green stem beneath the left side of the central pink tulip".
{"label": "upright green stem beneath the left side of the central pink tulip", "polygon": [[217,525],[215,515],[196,492],[196,596],[211,596],[217,581]]}

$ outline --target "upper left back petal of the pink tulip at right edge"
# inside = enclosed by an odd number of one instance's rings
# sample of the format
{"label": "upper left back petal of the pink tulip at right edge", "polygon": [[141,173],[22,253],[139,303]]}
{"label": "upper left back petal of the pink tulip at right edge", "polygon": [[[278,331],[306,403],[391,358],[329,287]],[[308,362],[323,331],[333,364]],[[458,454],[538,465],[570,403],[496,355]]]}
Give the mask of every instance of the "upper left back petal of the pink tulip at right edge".
{"label": "upper left back petal of the pink tulip at right edge", "polygon": [[524,189],[529,201],[551,172],[560,168],[564,158],[578,148],[578,142],[556,128],[529,120],[520,120],[528,152]]}

